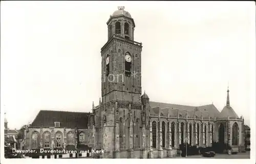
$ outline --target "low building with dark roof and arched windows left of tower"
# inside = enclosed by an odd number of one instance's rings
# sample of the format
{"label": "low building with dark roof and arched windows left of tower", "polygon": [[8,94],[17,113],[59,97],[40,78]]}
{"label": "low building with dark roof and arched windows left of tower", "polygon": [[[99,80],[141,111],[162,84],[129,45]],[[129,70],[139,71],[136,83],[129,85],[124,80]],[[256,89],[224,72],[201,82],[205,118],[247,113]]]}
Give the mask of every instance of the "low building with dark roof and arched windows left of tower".
{"label": "low building with dark roof and arched windows left of tower", "polygon": [[[40,110],[25,130],[25,149],[88,150],[86,112]],[[78,152],[79,153],[79,152]]]}

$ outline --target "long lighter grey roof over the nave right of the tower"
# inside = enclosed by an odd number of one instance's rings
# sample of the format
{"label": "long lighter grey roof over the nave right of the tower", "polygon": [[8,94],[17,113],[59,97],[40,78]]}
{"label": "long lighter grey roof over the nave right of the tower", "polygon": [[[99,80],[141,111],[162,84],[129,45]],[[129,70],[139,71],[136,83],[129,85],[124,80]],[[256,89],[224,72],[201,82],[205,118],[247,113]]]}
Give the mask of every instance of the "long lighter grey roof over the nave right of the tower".
{"label": "long lighter grey roof over the nave right of the tower", "polygon": [[[160,103],[160,102],[150,102],[150,106],[152,108],[151,114],[158,114],[159,110],[160,112],[163,112],[163,115],[168,115],[168,110],[170,116],[177,116],[177,111],[179,110],[179,113],[182,114],[182,116],[185,116],[186,113],[188,114],[189,118],[194,118],[194,114],[201,118],[218,118],[220,115],[220,111],[213,105],[203,105],[203,106],[188,106],[188,105],[178,105],[178,104],[168,104],[168,103]],[[186,110],[183,110],[186,109]],[[195,110],[195,111],[194,111]],[[161,114],[161,113],[160,113]]]}

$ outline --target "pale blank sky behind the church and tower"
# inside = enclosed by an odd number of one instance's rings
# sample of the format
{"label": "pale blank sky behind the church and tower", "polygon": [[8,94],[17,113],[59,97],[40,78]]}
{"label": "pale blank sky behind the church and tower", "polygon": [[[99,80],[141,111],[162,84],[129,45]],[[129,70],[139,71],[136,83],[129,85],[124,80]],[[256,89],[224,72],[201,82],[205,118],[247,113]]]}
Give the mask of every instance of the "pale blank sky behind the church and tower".
{"label": "pale blank sky behind the church and tower", "polygon": [[[41,109],[84,111],[101,97],[106,21],[125,6],[142,42],[151,101],[255,110],[253,2],[1,2],[1,118],[10,129]],[[3,121],[3,119],[1,119]]]}

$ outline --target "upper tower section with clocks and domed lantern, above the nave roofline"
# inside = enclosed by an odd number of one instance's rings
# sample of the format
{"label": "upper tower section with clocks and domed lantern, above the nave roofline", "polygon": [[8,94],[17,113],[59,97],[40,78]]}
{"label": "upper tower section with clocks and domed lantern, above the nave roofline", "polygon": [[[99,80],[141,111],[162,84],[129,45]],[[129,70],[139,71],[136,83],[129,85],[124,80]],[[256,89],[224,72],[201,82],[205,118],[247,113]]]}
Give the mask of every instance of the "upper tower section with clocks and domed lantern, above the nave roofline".
{"label": "upper tower section with clocks and domed lantern, above the nave roofline", "polygon": [[140,102],[142,44],[134,41],[135,22],[124,7],[118,7],[106,24],[108,41],[101,49],[102,103]]}

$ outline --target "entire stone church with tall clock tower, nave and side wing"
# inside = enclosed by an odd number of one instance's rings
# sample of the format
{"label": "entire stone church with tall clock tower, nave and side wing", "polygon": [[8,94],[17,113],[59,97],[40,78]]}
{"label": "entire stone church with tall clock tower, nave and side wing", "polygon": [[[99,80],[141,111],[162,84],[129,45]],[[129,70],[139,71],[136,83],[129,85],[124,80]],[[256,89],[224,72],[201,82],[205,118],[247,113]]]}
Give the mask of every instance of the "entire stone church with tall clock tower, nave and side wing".
{"label": "entire stone church with tall clock tower, nave and side wing", "polygon": [[[135,21],[118,7],[106,22],[101,48],[101,98],[92,112],[40,110],[25,130],[26,149],[96,149],[98,158],[166,158],[179,145],[244,148],[244,119],[229,102],[186,106],[150,101],[141,90],[142,43],[134,40]],[[143,75],[143,74],[142,74]]]}

